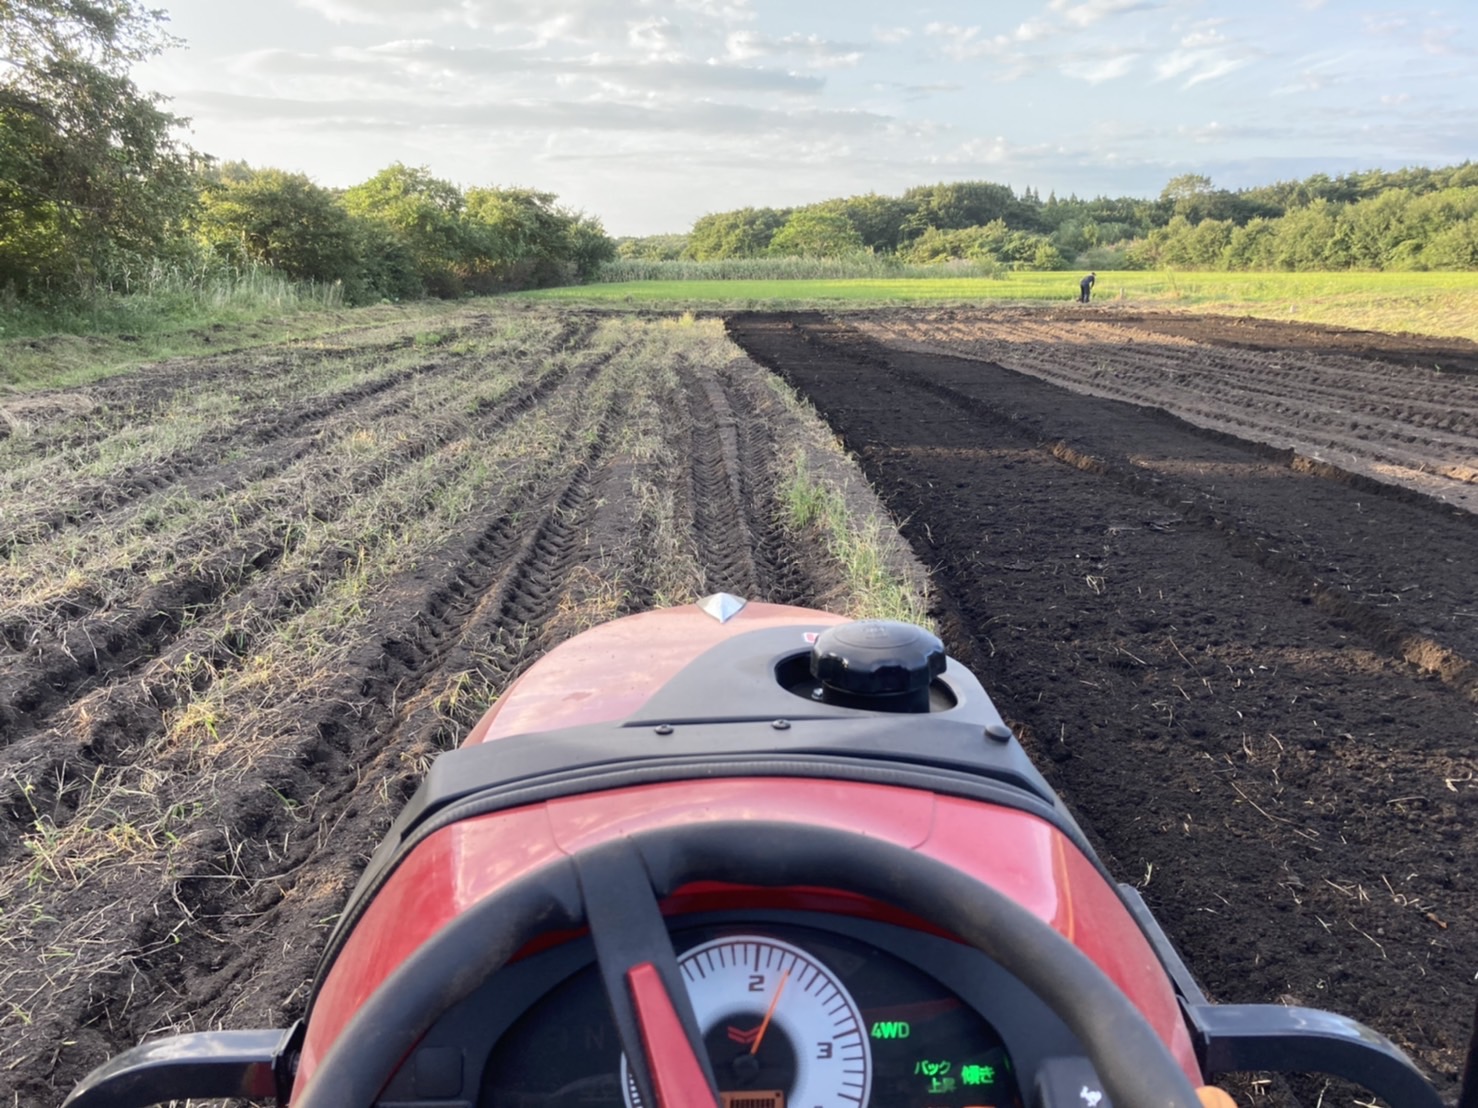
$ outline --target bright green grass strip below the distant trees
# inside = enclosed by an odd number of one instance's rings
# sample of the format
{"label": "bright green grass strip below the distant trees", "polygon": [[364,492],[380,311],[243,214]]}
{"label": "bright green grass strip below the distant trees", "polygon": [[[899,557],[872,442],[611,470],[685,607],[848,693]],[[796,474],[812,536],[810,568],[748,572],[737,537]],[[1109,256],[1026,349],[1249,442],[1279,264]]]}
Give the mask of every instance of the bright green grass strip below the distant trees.
{"label": "bright green grass strip below the distant trees", "polygon": [[[631,307],[885,307],[1073,300],[1077,272],[1004,278],[835,281],[637,281],[548,288],[520,295]],[[1478,341],[1478,273],[1100,273],[1097,304],[1414,331]]]}

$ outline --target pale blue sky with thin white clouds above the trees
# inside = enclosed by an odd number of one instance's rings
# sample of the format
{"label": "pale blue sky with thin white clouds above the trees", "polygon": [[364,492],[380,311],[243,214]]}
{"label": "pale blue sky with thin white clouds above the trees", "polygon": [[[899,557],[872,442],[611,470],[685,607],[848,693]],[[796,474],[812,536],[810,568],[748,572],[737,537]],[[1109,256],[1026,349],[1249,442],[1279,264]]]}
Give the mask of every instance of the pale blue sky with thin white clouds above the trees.
{"label": "pale blue sky with thin white clouds above the trees", "polygon": [[1474,0],[163,6],[183,46],[134,80],[197,149],[544,189],[612,235],[943,180],[1156,196],[1478,157]]}

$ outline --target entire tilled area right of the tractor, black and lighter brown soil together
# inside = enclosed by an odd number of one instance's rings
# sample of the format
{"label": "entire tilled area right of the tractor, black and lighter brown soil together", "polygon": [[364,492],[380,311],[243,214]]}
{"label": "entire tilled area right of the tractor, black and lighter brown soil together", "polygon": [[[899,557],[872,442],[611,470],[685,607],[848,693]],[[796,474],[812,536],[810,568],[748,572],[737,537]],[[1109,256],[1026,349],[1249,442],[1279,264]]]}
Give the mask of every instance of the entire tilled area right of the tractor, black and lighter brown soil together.
{"label": "entire tilled area right of the tractor, black and lighter brown soil together", "polygon": [[1471,344],[1030,309],[729,331],[854,452],[950,652],[1208,991],[1357,1016],[1454,1095],[1478,393],[1447,368]]}

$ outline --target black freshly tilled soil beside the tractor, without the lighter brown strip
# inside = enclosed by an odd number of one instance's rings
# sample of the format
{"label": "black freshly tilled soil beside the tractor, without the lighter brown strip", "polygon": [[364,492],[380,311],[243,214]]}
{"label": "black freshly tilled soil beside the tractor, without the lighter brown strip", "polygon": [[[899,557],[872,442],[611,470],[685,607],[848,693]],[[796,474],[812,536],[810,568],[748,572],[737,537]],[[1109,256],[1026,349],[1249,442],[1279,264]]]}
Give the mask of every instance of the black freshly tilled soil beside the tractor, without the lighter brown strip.
{"label": "black freshly tilled soil beside the tractor, without the lighter brown strip", "polygon": [[[1310,582],[1333,558],[1351,594],[1377,591],[1372,567],[1407,564],[1385,544],[1419,526],[1414,581],[1472,588],[1468,524],[1244,446],[1255,476],[1240,482],[1131,471],[1131,454],[1225,462],[1239,448],[817,316],[738,316],[730,332],[813,399],[909,520],[952,652],[1209,991],[1361,1018],[1454,1092],[1478,962],[1478,940],[1448,926],[1478,917],[1472,705]],[[1375,520],[1370,538],[1268,542],[1259,524],[1298,520],[1301,490],[1308,532]]]}

